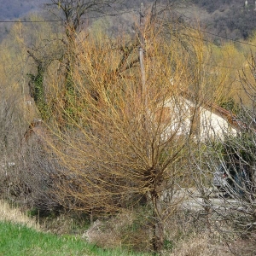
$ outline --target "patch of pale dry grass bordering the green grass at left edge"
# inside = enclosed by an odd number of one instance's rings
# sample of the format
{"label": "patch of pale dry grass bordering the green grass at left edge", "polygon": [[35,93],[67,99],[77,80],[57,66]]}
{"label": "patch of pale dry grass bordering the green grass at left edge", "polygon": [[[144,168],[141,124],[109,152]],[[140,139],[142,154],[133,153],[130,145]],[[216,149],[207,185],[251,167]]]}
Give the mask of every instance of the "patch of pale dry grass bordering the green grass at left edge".
{"label": "patch of pale dry grass bordering the green grass at left edge", "polygon": [[39,230],[39,224],[35,218],[29,218],[18,208],[10,207],[9,204],[3,200],[0,200],[0,221],[25,224],[29,228]]}

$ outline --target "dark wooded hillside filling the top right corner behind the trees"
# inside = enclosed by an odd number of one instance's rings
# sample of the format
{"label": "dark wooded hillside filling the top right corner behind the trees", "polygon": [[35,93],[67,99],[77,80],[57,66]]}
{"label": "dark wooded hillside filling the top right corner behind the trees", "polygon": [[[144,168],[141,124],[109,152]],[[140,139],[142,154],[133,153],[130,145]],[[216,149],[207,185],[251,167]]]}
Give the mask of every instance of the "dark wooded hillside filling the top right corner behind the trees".
{"label": "dark wooded hillside filling the top right corner behind the trees", "polygon": [[256,24],[253,0],[190,0],[184,15],[198,18],[208,32],[232,39],[247,39]]}

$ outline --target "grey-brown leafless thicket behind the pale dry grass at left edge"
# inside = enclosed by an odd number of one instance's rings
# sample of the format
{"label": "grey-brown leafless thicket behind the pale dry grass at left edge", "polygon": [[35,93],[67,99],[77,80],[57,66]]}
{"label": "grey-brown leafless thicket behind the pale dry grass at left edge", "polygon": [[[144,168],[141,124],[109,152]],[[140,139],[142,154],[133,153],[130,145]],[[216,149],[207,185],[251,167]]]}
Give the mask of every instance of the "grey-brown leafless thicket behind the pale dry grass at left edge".
{"label": "grey-brown leafless thicket behind the pale dry grass at left edge", "polygon": [[54,156],[45,150],[42,136],[35,134],[37,127],[25,130],[22,107],[26,107],[20,90],[5,87],[0,91],[1,197],[20,207],[36,208],[40,214],[57,211],[61,207],[47,189],[52,184],[51,173],[58,168]]}

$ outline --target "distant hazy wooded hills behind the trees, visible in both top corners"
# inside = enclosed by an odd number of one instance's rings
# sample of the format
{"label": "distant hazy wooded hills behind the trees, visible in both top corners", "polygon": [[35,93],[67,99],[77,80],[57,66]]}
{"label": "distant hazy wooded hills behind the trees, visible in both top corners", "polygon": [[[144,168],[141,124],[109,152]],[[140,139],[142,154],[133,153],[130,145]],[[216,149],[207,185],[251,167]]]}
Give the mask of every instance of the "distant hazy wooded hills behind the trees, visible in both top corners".
{"label": "distant hazy wooded hills behind the trees, visible in both top corners", "polygon": [[[26,15],[32,12],[43,12],[44,3],[49,0],[10,0],[8,3],[0,0],[0,20],[26,19]],[[153,3],[153,0],[144,3]],[[161,1],[159,1],[161,2]],[[133,13],[131,10],[138,9],[141,1],[125,0],[124,6],[129,10],[128,14],[113,20],[113,23],[123,24],[131,20]],[[207,32],[212,32],[221,37],[232,39],[247,39],[252,34],[256,24],[256,7],[253,0],[171,0],[172,10],[190,25],[198,26]],[[116,24],[113,24],[116,29]],[[0,23],[0,41],[9,32],[9,23]],[[213,37],[218,44],[219,38]]]}

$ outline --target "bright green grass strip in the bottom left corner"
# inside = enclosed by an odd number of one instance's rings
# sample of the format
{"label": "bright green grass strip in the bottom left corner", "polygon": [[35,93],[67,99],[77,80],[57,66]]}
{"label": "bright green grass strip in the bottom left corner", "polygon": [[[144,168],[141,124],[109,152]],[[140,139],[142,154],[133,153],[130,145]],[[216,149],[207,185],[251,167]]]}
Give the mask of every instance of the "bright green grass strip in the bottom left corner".
{"label": "bright green grass strip in the bottom left corner", "polygon": [[0,256],[65,256],[145,255],[122,252],[120,249],[105,250],[88,244],[75,236],[56,236],[38,232],[25,225],[0,222]]}

